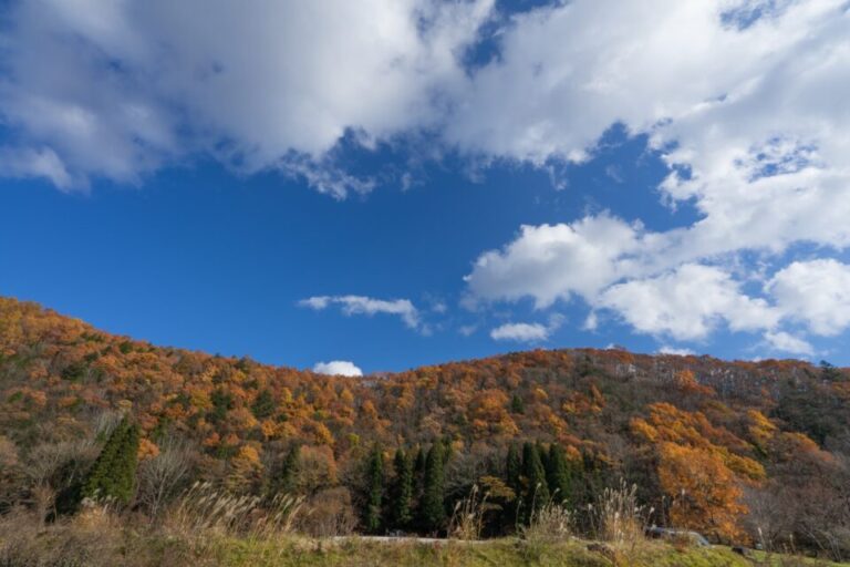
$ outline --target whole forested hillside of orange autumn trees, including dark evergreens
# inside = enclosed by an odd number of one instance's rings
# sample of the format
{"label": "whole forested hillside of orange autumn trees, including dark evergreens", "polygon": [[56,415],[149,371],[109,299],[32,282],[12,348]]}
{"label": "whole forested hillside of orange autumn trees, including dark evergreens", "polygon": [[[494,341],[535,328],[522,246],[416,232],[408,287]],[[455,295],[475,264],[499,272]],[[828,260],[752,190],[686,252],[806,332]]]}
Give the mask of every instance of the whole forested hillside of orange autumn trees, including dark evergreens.
{"label": "whole forested hillside of orange autumn trees, including dark evergreens", "polygon": [[207,481],[303,497],[311,533],[440,533],[476,486],[498,535],[543,501],[591,522],[625,483],[652,523],[839,558],[849,458],[829,364],[571,349],[325,377],[0,299],[0,511],[48,520],[97,494],[156,516]]}

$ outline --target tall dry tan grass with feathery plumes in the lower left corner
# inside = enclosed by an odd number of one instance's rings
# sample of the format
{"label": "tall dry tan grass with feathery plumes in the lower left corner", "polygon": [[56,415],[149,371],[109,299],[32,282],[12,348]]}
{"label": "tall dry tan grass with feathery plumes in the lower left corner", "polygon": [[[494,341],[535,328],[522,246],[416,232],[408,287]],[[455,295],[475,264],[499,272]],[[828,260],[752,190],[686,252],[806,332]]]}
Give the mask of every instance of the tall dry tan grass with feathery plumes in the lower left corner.
{"label": "tall dry tan grass with feathery plumes in the lower left corner", "polygon": [[145,517],[120,514],[110,503],[86,501],[81,512],[44,525],[38,514],[17,509],[0,516],[0,566],[219,565],[234,545],[268,545],[278,554],[293,533],[300,498],[251,496],[196,484],[152,526]]}

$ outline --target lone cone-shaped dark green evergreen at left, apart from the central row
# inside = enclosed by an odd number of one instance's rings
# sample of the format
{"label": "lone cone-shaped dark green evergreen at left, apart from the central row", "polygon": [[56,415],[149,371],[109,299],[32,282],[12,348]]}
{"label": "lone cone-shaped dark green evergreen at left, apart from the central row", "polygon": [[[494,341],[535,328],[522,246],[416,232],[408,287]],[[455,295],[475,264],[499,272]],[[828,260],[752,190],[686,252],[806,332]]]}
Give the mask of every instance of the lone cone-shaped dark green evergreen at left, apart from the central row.
{"label": "lone cone-shaped dark green evergreen at left, apart from the central row", "polygon": [[115,498],[121,504],[128,504],[136,486],[138,441],[138,425],[125,416],[110,434],[92,465],[83,486],[83,496]]}

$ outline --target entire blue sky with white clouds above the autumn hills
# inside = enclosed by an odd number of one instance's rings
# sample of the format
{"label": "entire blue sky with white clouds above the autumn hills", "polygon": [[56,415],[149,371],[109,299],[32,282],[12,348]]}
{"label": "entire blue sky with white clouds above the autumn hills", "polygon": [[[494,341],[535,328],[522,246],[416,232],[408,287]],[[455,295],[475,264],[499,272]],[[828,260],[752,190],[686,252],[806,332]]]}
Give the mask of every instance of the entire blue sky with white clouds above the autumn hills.
{"label": "entire blue sky with white clouds above the autumn hills", "polygon": [[325,3],[7,4],[0,293],[329,372],[850,364],[842,2]]}

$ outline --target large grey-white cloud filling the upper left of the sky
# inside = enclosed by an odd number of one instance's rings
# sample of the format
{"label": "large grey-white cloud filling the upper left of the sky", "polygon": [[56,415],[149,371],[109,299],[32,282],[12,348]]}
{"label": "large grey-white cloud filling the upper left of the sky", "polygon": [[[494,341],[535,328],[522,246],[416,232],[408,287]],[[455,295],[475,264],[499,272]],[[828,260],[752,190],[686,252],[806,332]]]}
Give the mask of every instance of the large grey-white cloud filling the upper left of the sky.
{"label": "large grey-white cloud filling the upper left of the sky", "polygon": [[346,131],[436,124],[491,3],[21,2],[4,10],[0,114],[79,183],[133,183],[206,154],[246,173],[280,167],[334,196],[366,190],[328,152]]}

